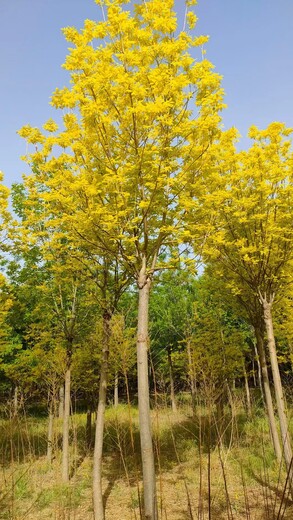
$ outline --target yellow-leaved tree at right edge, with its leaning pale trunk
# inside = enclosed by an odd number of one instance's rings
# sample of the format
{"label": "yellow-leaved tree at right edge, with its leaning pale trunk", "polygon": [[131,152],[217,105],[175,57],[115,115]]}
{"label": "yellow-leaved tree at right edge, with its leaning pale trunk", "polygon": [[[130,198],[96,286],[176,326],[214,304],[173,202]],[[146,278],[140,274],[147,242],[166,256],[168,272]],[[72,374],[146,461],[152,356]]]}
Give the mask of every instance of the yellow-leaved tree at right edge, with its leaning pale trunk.
{"label": "yellow-leaved tree at right edge, with its leaning pale trunk", "polygon": [[[282,298],[284,286],[292,281],[288,269],[293,258],[291,132],[282,123],[271,123],[265,130],[252,127],[252,146],[238,154],[232,146],[222,157],[218,191],[210,195],[211,207],[217,203],[217,222],[211,225],[213,246],[207,252],[229,273],[230,287],[246,305],[258,343],[262,343],[261,330],[266,330],[282,447],[292,478],[291,439],[272,319],[273,301]],[[260,354],[265,364],[262,348]]]}

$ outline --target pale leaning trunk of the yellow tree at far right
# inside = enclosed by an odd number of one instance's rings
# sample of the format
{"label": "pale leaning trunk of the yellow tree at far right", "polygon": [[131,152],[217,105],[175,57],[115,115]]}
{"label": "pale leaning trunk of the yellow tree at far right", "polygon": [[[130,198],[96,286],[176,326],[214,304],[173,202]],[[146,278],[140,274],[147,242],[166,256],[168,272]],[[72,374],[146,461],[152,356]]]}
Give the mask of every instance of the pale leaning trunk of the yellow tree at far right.
{"label": "pale leaning trunk of the yellow tree at far right", "polygon": [[278,416],[279,416],[279,421],[280,421],[284,458],[285,458],[285,462],[286,462],[287,471],[290,472],[289,478],[290,478],[290,486],[291,486],[291,480],[293,477],[292,449],[291,449],[291,440],[290,440],[290,433],[289,433],[289,428],[288,428],[288,420],[287,420],[287,414],[286,414],[284,393],[283,393],[283,387],[282,387],[280,370],[279,370],[279,363],[278,363],[277,352],[276,352],[273,319],[272,319],[273,298],[270,298],[270,300],[267,301],[266,297],[261,297],[261,302],[263,304],[264,322],[265,322],[266,332],[267,332],[268,348],[269,348],[271,367],[272,367],[272,373],[273,373],[277,410],[278,410]]}

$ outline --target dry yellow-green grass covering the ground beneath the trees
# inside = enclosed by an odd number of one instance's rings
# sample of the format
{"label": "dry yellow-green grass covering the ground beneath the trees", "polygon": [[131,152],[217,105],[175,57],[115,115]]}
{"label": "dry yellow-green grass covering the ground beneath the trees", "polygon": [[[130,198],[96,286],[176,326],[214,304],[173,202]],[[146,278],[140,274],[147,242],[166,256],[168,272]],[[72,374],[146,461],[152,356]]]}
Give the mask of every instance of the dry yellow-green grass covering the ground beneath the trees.
{"label": "dry yellow-green grass covering the ground beneath the trees", "polygon": [[[173,414],[152,412],[159,520],[285,520],[293,508],[282,497],[284,469],[271,448],[266,419],[247,421],[225,410],[221,435],[213,411],[188,403]],[[92,451],[85,449],[84,414],[72,418],[71,481],[60,478],[62,424],[55,421],[52,465],[46,461],[47,421],[19,417],[0,422],[0,519],[92,519]],[[139,519],[141,469],[137,409],[106,412],[103,459],[106,518]]]}

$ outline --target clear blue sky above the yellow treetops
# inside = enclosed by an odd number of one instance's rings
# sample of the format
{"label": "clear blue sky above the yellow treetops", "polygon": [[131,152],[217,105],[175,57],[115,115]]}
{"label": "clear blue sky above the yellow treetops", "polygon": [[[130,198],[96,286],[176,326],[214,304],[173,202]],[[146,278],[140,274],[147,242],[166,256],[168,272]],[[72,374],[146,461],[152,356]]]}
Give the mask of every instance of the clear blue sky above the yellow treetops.
{"label": "clear blue sky above the yellow treetops", "polygon": [[[175,4],[182,19],[184,0]],[[210,35],[207,58],[223,75],[225,127],[245,136],[251,124],[293,126],[293,0],[198,0],[195,12],[196,32]],[[94,0],[0,0],[0,170],[6,184],[27,171],[19,158],[25,142],[16,131],[54,118],[50,96],[68,83],[61,27],[81,28],[84,19],[99,16]]]}

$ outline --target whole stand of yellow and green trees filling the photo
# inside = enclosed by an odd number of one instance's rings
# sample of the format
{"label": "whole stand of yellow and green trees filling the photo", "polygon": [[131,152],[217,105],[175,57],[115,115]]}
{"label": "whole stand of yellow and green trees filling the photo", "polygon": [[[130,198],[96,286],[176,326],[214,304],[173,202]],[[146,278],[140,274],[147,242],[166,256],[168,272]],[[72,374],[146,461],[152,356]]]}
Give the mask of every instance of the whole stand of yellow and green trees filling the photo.
{"label": "whole stand of yellow and green trees filling the photo", "polygon": [[[100,520],[109,373],[116,389],[118,375],[127,381],[137,316],[144,514],[155,520],[148,316],[156,278],[154,345],[160,369],[168,367],[173,407],[180,364],[193,396],[195,381],[204,378],[215,388],[240,375],[247,382],[245,359],[249,352],[254,358],[255,344],[276,456],[284,453],[291,478],[272,321],[273,302],[283,318],[291,304],[291,130],[281,123],[252,127],[251,147],[237,151],[236,130],[221,128],[223,90],[202,51],[207,38],[192,35],[194,2],[186,2],[181,32],[173,0],[140,2],[133,11],[120,0],[97,3],[107,11],[102,22],[64,30],[73,45],[64,65],[71,85],[52,97],[63,128],[49,120],[19,132],[31,174],[13,189],[15,220],[1,188],[10,280],[6,291],[3,279],[2,358],[12,379],[30,363],[31,380],[42,374],[54,394],[64,375],[64,481],[72,370],[89,403],[98,395],[93,497]],[[201,289],[191,281],[199,260],[208,266]],[[135,290],[137,310],[129,311]]]}

